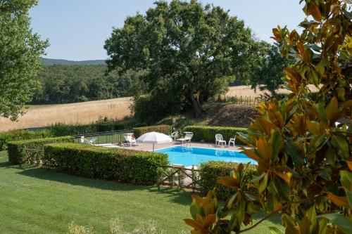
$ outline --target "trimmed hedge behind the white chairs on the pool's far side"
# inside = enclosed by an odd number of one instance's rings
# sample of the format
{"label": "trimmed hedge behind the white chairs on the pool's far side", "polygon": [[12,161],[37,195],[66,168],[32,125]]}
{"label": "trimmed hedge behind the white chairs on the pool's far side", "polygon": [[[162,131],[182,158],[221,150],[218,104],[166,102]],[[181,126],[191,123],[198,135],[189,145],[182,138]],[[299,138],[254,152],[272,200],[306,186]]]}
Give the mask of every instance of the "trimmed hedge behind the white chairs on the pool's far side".
{"label": "trimmed hedge behind the white chairs on the pool's far side", "polygon": [[[191,131],[194,133],[192,141],[206,141],[215,143],[215,135],[222,134],[225,141],[229,141],[230,138],[234,138],[237,132],[246,131],[245,128],[237,128],[230,126],[200,126],[192,125],[185,126],[184,131]],[[236,140],[236,143],[241,144],[241,141]]]}

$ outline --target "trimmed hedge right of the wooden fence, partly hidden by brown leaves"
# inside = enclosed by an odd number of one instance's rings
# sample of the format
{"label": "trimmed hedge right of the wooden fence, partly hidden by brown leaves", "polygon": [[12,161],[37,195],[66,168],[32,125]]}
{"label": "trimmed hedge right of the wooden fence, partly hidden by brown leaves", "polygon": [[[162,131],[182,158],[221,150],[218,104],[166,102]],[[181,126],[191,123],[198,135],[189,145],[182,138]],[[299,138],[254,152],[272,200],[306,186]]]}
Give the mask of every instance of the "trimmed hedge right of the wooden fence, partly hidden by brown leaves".
{"label": "trimmed hedge right of the wooden fence, partly hidden by brown leaves", "polygon": [[[209,190],[215,188],[216,197],[219,200],[227,200],[227,198],[234,194],[234,190],[216,183],[216,180],[219,176],[230,176],[231,171],[236,171],[238,166],[238,163],[218,161],[200,164],[199,186],[201,187],[201,192],[206,194]],[[245,171],[250,178],[253,178],[253,175],[256,174],[256,166],[250,164]]]}

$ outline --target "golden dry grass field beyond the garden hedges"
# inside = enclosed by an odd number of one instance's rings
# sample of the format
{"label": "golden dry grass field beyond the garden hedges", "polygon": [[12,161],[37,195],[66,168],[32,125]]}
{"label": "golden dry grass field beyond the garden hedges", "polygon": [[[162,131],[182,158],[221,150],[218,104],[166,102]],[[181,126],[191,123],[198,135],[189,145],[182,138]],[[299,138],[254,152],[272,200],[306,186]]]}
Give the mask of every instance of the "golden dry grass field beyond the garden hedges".
{"label": "golden dry grass field beyond the garden hedges", "polygon": [[[287,92],[287,91],[282,91]],[[249,86],[230,87],[226,96],[242,96],[256,98],[260,91],[253,91]],[[122,119],[130,115],[131,98],[114,98],[84,103],[60,105],[31,105],[27,113],[17,122],[0,118],[0,131],[26,129],[37,126],[48,126],[57,122],[66,124],[89,124],[99,118]]]}

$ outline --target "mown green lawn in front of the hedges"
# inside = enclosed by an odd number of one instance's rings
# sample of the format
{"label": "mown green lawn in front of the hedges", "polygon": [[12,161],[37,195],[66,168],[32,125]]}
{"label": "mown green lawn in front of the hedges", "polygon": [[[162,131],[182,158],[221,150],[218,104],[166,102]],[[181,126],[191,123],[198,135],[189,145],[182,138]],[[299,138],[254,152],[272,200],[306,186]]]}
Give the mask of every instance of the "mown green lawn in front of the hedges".
{"label": "mown green lawn in front of the hedges", "polygon": [[[154,219],[165,233],[189,230],[191,194],[98,181],[37,167],[8,163],[0,152],[0,233],[66,233],[71,221],[108,233],[110,219],[118,216],[127,231],[140,221]],[[277,223],[277,219],[275,219]],[[249,233],[269,233],[271,221]]]}

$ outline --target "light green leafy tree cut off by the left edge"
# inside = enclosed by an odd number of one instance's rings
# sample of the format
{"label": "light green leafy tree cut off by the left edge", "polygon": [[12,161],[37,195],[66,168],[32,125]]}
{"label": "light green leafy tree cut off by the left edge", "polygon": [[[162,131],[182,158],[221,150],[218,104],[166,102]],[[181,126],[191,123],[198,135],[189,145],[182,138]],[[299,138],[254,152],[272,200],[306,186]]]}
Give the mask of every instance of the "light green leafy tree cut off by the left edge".
{"label": "light green leafy tree cut off by the left edge", "polygon": [[30,28],[35,0],[0,1],[0,116],[17,119],[38,86],[40,56],[48,41]]}

